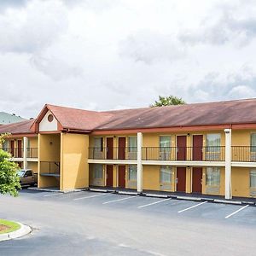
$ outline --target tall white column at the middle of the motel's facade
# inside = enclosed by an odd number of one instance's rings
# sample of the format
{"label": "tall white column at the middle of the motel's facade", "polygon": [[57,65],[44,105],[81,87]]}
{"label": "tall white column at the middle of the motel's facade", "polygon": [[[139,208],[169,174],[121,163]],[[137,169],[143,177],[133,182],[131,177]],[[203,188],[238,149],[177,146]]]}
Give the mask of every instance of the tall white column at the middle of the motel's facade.
{"label": "tall white column at the middle of the motel's facade", "polygon": [[137,133],[137,192],[143,192],[143,163],[142,163],[143,133]]}

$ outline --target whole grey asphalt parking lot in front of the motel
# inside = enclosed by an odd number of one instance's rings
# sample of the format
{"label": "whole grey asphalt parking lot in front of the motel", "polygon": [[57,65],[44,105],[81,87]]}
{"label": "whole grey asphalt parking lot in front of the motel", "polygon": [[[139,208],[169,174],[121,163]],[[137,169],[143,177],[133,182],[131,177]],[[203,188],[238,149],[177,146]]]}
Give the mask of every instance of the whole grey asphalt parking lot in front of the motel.
{"label": "whole grey asphalt parking lot in front of the motel", "polygon": [[255,255],[256,207],[80,191],[0,195],[0,216],[32,226],[0,255]]}

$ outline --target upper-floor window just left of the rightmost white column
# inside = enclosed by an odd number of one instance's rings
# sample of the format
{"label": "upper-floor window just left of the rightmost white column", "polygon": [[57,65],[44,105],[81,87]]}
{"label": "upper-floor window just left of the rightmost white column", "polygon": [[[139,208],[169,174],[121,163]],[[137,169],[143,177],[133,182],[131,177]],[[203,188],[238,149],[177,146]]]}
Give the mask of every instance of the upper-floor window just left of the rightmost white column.
{"label": "upper-floor window just left of the rightmost white column", "polygon": [[207,134],[207,160],[219,160],[220,134]]}

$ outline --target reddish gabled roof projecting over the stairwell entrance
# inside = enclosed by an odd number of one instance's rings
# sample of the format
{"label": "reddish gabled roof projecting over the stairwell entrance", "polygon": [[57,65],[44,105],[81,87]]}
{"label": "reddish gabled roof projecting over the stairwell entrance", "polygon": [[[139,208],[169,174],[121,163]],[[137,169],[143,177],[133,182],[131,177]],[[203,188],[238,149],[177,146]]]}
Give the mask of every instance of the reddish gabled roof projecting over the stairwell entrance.
{"label": "reddish gabled roof projecting over the stairwell entrance", "polygon": [[33,128],[37,129],[37,125],[44,118],[44,115],[48,110],[55,116],[55,119],[59,122],[60,131],[75,130],[90,132],[93,129],[105,123],[109,118],[113,116],[112,113],[100,113],[96,111],[89,111],[77,108],[67,108],[46,104],[39,113],[38,118],[35,119]]}

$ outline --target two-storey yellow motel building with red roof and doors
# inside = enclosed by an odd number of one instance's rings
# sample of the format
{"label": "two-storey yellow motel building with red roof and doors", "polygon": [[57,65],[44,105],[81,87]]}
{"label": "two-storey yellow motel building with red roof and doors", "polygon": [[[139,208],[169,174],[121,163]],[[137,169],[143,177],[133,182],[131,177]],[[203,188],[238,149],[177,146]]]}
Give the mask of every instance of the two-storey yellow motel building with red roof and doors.
{"label": "two-storey yellow motel building with red roof and doors", "polygon": [[1,125],[38,188],[256,197],[256,99],[96,112],[46,104]]}

